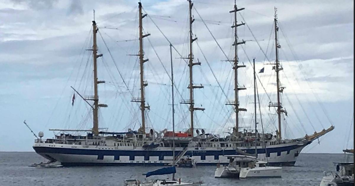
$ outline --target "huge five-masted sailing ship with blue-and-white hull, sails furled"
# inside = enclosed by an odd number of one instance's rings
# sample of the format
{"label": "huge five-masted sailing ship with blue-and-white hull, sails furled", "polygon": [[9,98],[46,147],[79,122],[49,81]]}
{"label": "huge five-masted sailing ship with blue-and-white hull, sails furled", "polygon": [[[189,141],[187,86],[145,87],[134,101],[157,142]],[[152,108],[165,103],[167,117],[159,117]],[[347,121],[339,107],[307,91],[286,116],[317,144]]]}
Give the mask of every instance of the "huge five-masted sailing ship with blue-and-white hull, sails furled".
{"label": "huge five-masted sailing ship with blue-and-white hull, sails furled", "polygon": [[[237,27],[243,26],[244,23],[237,24],[237,12],[244,8],[237,8],[236,4],[230,13],[234,14],[234,24],[231,26],[234,30],[234,58],[229,60],[233,63],[234,71],[234,101],[229,101],[226,105],[234,107],[235,111],[235,126],[233,132],[225,137],[207,134],[203,129],[201,133],[194,128],[194,112],[203,111],[204,108],[195,107],[194,104],[194,89],[203,88],[202,85],[193,84],[193,67],[201,65],[200,62],[194,62],[192,53],[193,42],[197,38],[193,37],[192,24],[195,19],[192,16],[193,3],[189,2],[189,99],[182,101],[182,104],[187,104],[190,111],[190,129],[184,133],[175,133],[175,131],[163,130],[161,133],[155,132],[153,129],[146,130],[145,112],[149,109],[146,105],[144,89],[147,86],[143,79],[144,63],[148,59],[144,58],[143,38],[150,34],[143,35],[142,19],[146,14],[142,13],[142,4],[139,2],[139,64],[140,64],[140,98],[133,99],[132,102],[137,102],[141,110],[141,127],[137,131],[129,130],[127,132],[107,132],[99,130],[98,110],[100,107],[107,107],[105,104],[99,103],[98,86],[105,81],[98,80],[97,73],[97,58],[102,54],[98,54],[96,36],[98,27],[95,21],[92,21],[93,30],[93,96],[84,98],[80,92],[75,92],[83,98],[93,111],[93,128],[91,130],[65,130],[58,129],[59,135],[55,135],[53,139],[35,140],[33,149],[50,162],[60,162],[64,166],[85,166],[85,165],[167,165],[179,161],[181,158],[192,157],[198,165],[213,165],[227,164],[228,159],[225,155],[235,154],[255,154],[260,160],[267,159],[269,164],[277,165],[294,165],[299,153],[302,149],[318,139],[324,134],[332,131],[334,126],[328,129],[323,129],[319,133],[300,137],[297,139],[284,139],[281,133],[281,115],[285,114],[280,103],[280,94],[283,88],[279,84],[279,71],[282,70],[278,60],[278,22],[277,16],[274,17],[275,29],[275,52],[276,60],[273,69],[277,75],[277,103],[271,104],[270,107],[275,107],[278,115],[278,133],[272,134],[257,134],[246,131],[239,131],[239,113],[245,112],[245,108],[239,107],[239,91],[246,88],[238,87],[238,69],[245,67],[239,63],[237,47],[244,44],[245,41],[238,40]],[[170,43],[171,44],[171,43]],[[93,101],[93,104],[89,103]],[[68,132],[83,131],[87,135],[71,135]],[[256,143],[256,144],[255,144]],[[255,148],[255,146],[257,146]]]}

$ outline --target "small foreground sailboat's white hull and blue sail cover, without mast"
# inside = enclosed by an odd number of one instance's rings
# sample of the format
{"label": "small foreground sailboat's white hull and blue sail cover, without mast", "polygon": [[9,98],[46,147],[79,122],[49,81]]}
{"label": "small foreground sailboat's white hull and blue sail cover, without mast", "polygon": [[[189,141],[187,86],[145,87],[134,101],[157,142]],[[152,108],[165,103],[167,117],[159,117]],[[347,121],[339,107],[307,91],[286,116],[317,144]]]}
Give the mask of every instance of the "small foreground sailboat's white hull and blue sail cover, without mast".
{"label": "small foreground sailboat's white hull and blue sail cover, without mast", "polygon": [[171,180],[156,179],[156,180],[145,181],[145,182],[141,182],[136,179],[130,179],[130,180],[125,180],[124,184],[125,184],[125,186],[199,186],[199,185],[203,184],[202,181],[182,182],[181,178],[176,180],[174,178],[175,173],[176,173],[175,166],[161,168],[161,169],[157,169],[157,170],[148,172],[147,174],[143,174],[143,175],[146,175],[146,177],[149,177],[149,176],[153,176],[153,175],[173,174],[173,178]]}

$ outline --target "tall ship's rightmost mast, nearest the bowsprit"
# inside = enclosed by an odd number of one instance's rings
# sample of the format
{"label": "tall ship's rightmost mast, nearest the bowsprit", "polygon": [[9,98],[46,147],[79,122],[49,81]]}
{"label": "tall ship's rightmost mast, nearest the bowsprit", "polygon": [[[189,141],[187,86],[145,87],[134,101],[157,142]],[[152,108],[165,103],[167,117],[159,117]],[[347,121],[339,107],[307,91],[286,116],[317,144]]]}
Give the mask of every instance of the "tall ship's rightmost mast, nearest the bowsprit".
{"label": "tall ship's rightmost mast, nearest the bowsprit", "polygon": [[279,62],[279,48],[281,48],[281,45],[278,42],[277,35],[279,32],[279,27],[277,26],[277,8],[275,8],[275,15],[274,15],[274,25],[275,25],[275,66],[273,69],[276,72],[276,86],[277,86],[277,104],[271,103],[269,107],[277,107],[277,116],[278,116],[278,139],[281,140],[281,113],[285,113],[287,115],[287,112],[285,109],[283,109],[282,104],[280,102],[280,93],[283,92],[285,87],[280,87],[280,79],[279,79],[279,71],[283,70],[282,67],[280,67],[280,62]]}

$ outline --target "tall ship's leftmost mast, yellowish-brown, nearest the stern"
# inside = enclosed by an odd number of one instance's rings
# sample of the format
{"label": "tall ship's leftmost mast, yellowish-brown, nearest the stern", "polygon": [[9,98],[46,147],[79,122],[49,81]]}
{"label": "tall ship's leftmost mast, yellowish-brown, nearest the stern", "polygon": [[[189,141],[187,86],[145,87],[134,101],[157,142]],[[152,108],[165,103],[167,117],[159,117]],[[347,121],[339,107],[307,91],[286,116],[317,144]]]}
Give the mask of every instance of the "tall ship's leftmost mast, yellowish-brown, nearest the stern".
{"label": "tall ship's leftmost mast, yellowish-brown, nearest the stern", "polygon": [[94,97],[92,98],[86,98],[85,100],[92,100],[94,101],[94,106],[93,106],[93,128],[92,132],[95,136],[99,135],[99,126],[98,126],[98,112],[99,112],[99,107],[107,107],[105,104],[99,104],[99,96],[98,96],[98,90],[97,90],[97,85],[100,83],[105,83],[105,81],[98,81],[97,79],[97,58],[101,57],[102,54],[97,55],[97,44],[96,44],[96,34],[99,31],[97,28],[95,20],[92,21],[92,28],[93,28],[93,46],[92,46],[92,53],[93,53],[93,62],[94,62]]}

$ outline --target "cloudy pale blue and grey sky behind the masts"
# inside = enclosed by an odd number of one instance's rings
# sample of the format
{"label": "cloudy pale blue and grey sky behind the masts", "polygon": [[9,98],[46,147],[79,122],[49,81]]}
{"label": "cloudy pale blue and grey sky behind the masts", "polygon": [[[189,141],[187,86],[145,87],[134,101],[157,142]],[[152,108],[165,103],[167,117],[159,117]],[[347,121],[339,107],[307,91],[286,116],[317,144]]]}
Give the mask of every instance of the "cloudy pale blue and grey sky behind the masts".
{"label": "cloudy pale blue and grey sky behind the masts", "polygon": [[[233,108],[225,105],[234,99],[234,85],[231,64],[224,61],[233,57],[229,11],[234,1],[193,2],[193,34],[198,38],[193,52],[195,62],[201,62],[201,67],[193,67],[193,80],[205,86],[195,91],[195,106],[206,108],[196,111],[195,126],[225,135],[235,119]],[[175,103],[179,103],[188,98],[187,65],[181,57],[188,55],[189,5],[186,0],[142,0],[142,5],[149,15],[143,20],[144,33],[151,34],[144,38],[145,57],[149,58],[144,63],[145,90],[151,107],[147,125],[171,130],[171,87],[166,74],[170,73],[170,49],[157,26],[181,55],[173,49]],[[258,82],[263,127],[273,134],[277,129],[275,112],[267,107],[269,101],[276,101],[275,72],[268,63],[275,60],[272,29],[277,7],[279,59],[284,69],[280,82],[286,87],[282,103],[288,111],[283,117],[283,136],[298,138],[334,125],[320,145],[315,141],[302,152],[341,153],[346,147],[353,148],[354,2],[248,0],[237,1],[237,6],[245,7],[237,19],[246,23],[238,27],[239,39],[246,40],[239,47],[239,60],[246,64],[239,69],[239,85],[247,88],[240,91],[239,101],[248,109],[240,114],[240,126],[254,125],[250,61],[256,58],[256,70],[265,69],[258,74],[263,86]],[[48,138],[54,136],[49,128],[92,127],[88,105],[78,95],[71,105],[70,86],[82,95],[93,94],[92,58],[86,50],[92,47],[93,9],[99,52],[104,55],[98,60],[98,77],[106,80],[99,85],[100,103],[109,105],[100,109],[99,125],[109,131],[139,128],[139,107],[130,102],[139,94],[139,66],[132,56],[138,52],[137,2],[4,0],[0,2],[0,151],[32,151],[35,138],[24,119],[34,133],[44,131]],[[187,106],[177,104],[177,130],[188,128],[189,122]],[[258,123],[261,130],[260,117]]]}

